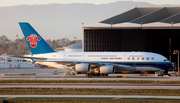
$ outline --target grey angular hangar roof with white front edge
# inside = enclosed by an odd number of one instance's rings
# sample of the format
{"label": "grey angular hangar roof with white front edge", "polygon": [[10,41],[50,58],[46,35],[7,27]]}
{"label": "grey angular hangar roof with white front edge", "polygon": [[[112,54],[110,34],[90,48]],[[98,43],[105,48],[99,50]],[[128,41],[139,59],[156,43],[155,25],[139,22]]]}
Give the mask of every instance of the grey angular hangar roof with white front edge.
{"label": "grey angular hangar roof with white front edge", "polygon": [[136,7],[83,28],[180,28],[180,7]]}

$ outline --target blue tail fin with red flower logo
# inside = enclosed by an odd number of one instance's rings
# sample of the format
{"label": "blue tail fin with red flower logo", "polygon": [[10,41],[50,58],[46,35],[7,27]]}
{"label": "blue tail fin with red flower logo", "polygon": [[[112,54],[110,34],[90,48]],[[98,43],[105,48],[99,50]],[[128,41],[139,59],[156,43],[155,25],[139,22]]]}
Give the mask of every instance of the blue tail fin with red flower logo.
{"label": "blue tail fin with red flower logo", "polygon": [[19,25],[32,54],[55,52],[29,23],[20,22]]}

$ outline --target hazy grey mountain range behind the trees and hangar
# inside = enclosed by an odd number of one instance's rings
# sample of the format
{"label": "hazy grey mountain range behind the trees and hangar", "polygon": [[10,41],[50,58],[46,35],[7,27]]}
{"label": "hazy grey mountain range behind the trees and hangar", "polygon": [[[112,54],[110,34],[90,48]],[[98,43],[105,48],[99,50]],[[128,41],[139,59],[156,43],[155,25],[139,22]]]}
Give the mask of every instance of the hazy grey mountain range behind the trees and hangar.
{"label": "hazy grey mountain range behind the trees and hangar", "polygon": [[[82,39],[81,24],[100,22],[134,7],[163,7],[145,2],[118,1],[109,4],[48,4],[0,7],[0,36],[23,37],[18,22],[29,22],[45,39],[77,37]],[[176,5],[177,6],[177,5]]]}

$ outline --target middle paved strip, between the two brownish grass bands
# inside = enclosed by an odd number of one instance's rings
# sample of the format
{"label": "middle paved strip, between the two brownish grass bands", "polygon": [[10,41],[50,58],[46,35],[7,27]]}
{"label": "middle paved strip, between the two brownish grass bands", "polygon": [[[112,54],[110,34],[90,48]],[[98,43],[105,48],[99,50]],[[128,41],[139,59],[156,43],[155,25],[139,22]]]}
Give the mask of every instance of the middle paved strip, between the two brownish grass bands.
{"label": "middle paved strip, between the two brownish grass bands", "polygon": [[6,83],[6,87],[34,87],[34,88],[112,88],[112,89],[180,89],[180,84],[129,84],[129,83]]}

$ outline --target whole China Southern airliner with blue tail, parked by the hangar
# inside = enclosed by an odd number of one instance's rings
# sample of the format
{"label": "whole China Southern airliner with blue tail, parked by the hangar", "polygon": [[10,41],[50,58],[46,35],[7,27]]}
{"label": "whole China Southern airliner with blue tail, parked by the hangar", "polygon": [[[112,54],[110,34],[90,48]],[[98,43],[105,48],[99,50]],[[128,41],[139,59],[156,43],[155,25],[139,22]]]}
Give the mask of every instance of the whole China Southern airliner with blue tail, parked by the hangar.
{"label": "whole China Southern airliner with blue tail, parked by the hangar", "polygon": [[54,51],[26,22],[19,23],[32,55],[16,56],[37,63],[88,75],[105,75],[120,71],[167,71],[172,63],[151,52],[61,52]]}

